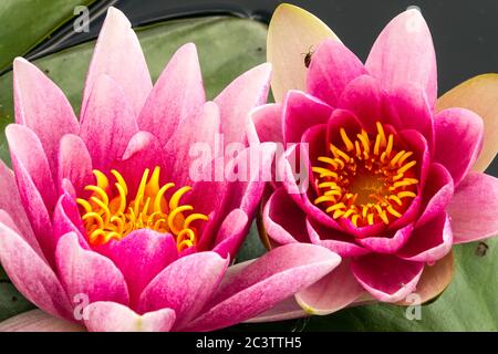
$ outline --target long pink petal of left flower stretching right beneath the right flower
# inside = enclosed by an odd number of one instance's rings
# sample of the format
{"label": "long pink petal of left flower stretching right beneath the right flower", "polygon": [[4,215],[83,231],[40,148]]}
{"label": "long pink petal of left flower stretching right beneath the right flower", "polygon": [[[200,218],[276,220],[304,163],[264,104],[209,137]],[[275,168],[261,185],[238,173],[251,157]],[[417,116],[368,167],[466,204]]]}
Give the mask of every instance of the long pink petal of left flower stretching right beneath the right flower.
{"label": "long pink petal of left flower stretching right beneath the right flower", "polygon": [[185,330],[209,331],[249,320],[311,285],[340,260],[338,254],[312,244],[276,248],[235,275],[228,274],[206,313]]}

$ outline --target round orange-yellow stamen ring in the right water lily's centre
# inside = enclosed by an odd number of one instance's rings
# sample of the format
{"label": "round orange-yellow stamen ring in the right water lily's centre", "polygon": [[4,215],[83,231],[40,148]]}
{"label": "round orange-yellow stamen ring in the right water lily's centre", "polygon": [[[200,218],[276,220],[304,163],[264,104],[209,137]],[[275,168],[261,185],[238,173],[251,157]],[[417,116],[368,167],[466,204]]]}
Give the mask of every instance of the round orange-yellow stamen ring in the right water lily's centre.
{"label": "round orange-yellow stamen ring in the right water lily's centre", "polygon": [[319,157],[320,166],[312,168],[319,191],[314,204],[355,227],[390,225],[417,196],[413,152],[396,150],[394,135],[386,136],[378,122],[376,127],[375,136],[362,129],[354,139],[341,128],[340,146],[330,144],[330,155]]}

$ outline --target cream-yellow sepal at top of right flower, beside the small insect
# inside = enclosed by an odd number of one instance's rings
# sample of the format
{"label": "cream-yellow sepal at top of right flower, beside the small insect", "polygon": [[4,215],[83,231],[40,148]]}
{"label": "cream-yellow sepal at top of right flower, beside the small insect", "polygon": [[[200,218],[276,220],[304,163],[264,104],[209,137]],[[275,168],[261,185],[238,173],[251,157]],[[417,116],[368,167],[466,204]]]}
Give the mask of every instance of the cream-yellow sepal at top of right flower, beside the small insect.
{"label": "cream-yellow sepal at top of right flower, beside the small insect", "polygon": [[305,90],[304,56],[325,39],[339,41],[335,33],[310,12],[289,3],[274,10],[268,28],[267,58],[273,65],[271,90],[277,102],[282,102],[289,90]]}

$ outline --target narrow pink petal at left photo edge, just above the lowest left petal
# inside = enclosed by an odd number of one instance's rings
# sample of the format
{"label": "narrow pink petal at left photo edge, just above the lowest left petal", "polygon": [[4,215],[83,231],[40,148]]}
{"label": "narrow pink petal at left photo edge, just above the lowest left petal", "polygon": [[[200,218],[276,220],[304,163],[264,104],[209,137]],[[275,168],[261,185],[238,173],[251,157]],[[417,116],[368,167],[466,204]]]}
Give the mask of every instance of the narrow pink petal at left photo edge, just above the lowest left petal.
{"label": "narrow pink petal at left photo edge, just above the lowest left petal", "polygon": [[19,229],[20,235],[24,240],[33,249],[40,251],[40,246],[38,244],[28,216],[22,207],[14,175],[2,160],[0,160],[0,210],[4,210],[9,216],[9,219],[12,218],[13,225]]}

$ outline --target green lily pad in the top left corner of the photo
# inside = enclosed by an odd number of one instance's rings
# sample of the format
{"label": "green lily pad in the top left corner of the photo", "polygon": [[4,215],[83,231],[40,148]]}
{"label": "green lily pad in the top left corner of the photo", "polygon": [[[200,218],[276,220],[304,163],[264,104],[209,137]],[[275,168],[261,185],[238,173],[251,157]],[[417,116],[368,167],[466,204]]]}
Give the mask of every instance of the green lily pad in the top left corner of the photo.
{"label": "green lily pad in the top left corner of the photo", "polygon": [[0,71],[24,55],[74,15],[77,6],[95,0],[2,0],[0,2]]}

